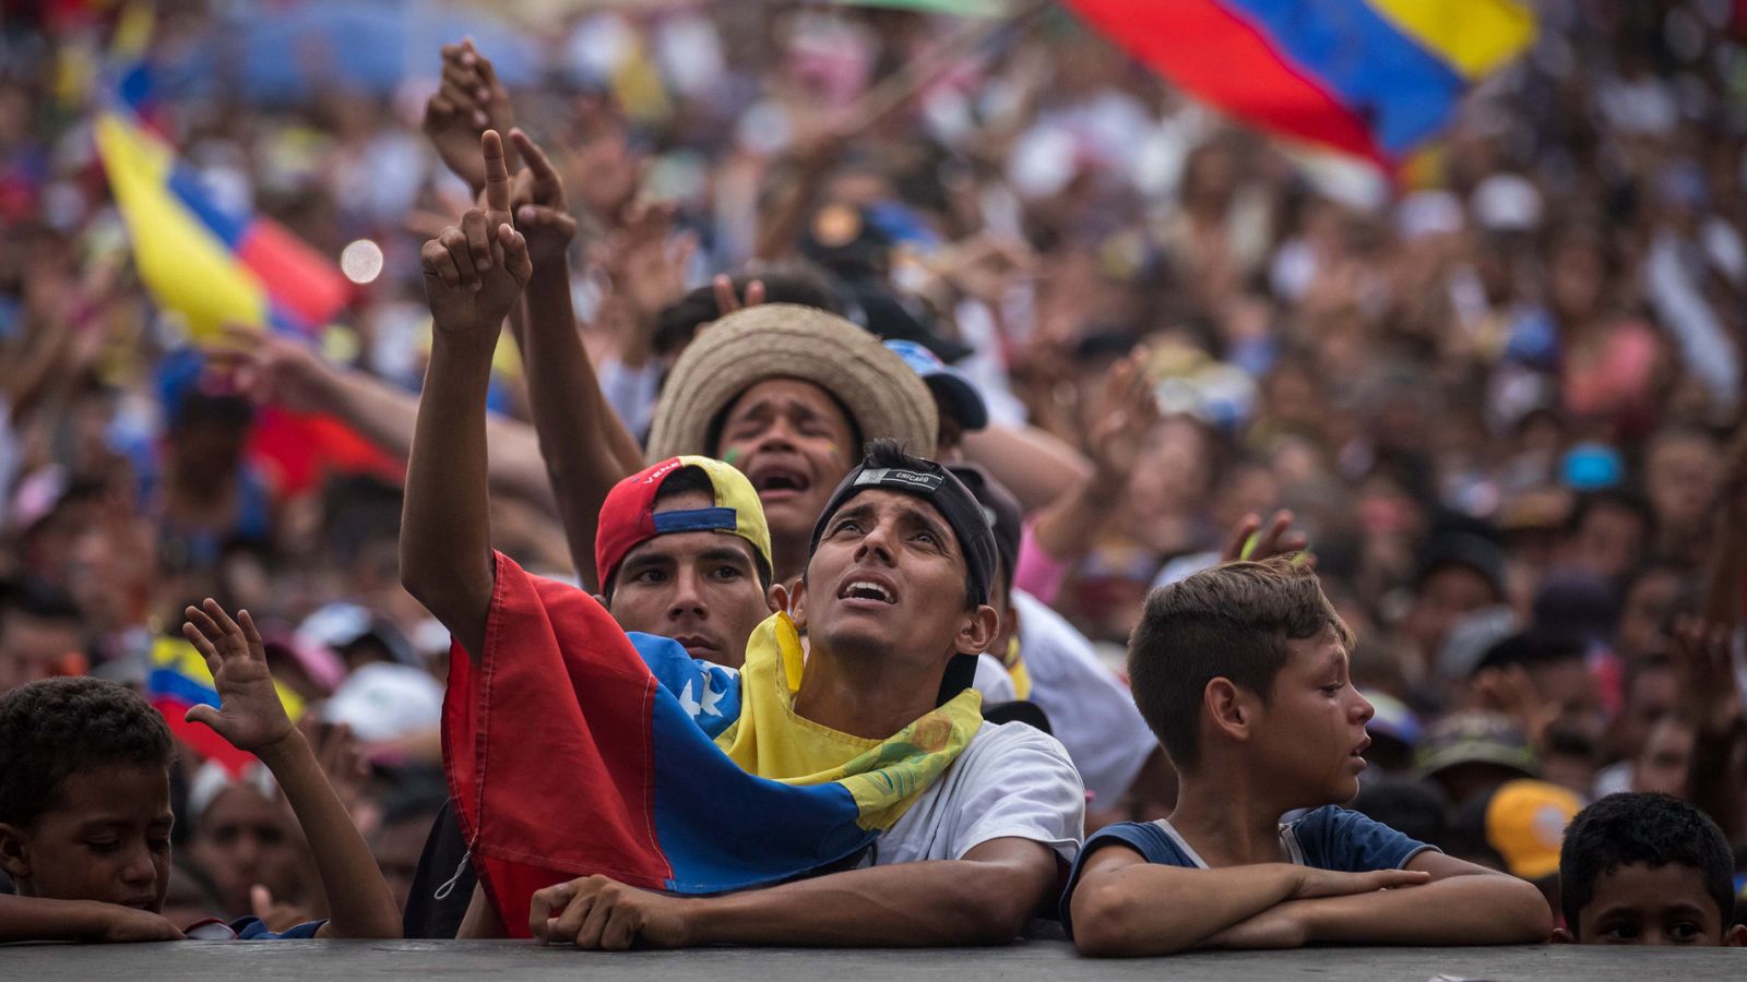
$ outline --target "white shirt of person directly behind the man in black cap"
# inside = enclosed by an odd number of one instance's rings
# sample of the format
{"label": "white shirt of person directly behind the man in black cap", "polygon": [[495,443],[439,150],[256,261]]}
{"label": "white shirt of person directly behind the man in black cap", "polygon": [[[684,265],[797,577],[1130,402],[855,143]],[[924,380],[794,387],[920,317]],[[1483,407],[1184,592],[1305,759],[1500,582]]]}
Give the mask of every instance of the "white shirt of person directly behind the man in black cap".
{"label": "white shirt of person directly behind the man in black cap", "polygon": [[1013,606],[1031,701],[1050,716],[1050,729],[1073,757],[1092,800],[1109,807],[1134,783],[1158,741],[1134,708],[1134,695],[1104,667],[1085,634],[1025,591],[1013,591]]}

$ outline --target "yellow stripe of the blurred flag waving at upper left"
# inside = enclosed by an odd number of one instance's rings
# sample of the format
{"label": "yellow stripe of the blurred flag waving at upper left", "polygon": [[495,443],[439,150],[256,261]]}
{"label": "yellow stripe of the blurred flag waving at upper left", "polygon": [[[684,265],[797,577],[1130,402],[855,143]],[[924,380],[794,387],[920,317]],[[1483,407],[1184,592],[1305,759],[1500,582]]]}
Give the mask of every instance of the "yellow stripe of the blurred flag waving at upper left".
{"label": "yellow stripe of the blurred flag waving at upper left", "polygon": [[140,280],[199,341],[225,323],[266,325],[267,294],[169,190],[169,149],[114,114],[98,117],[98,154],[128,224]]}

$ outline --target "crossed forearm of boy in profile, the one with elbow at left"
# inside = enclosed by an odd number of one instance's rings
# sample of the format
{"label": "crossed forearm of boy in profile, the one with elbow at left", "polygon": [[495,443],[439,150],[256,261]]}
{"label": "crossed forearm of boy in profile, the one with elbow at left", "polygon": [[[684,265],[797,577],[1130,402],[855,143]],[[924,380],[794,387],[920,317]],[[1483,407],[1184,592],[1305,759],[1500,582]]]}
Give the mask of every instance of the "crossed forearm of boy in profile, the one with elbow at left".
{"label": "crossed forearm of boy in profile, the one with elbow at left", "polygon": [[1417,888],[1426,881],[1424,872],[1343,874],[1291,863],[1191,870],[1148,863],[1127,846],[1106,846],[1087,860],[1069,916],[1083,954],[1172,954],[1209,945],[1221,931],[1291,900]]}

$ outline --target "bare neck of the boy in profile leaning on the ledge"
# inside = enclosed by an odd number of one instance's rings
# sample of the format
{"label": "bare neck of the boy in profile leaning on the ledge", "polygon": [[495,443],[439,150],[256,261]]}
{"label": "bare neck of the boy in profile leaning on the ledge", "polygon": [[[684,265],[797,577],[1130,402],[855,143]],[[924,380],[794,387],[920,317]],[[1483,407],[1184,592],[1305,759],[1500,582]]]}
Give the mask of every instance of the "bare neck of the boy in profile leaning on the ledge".
{"label": "bare neck of the boy in profile leaning on the ledge", "polygon": [[1177,774],[1170,826],[1209,867],[1281,863],[1281,814],[1289,811],[1242,767],[1202,760]]}

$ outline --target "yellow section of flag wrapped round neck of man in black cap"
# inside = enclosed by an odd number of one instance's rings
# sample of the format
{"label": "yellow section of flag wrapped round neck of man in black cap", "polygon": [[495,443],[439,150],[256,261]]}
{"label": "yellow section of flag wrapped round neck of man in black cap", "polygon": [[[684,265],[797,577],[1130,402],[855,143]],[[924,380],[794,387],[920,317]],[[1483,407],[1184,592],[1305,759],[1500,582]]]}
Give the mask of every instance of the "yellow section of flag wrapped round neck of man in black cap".
{"label": "yellow section of flag wrapped round neck of man in black cap", "polygon": [[790,785],[849,788],[867,830],[891,828],[982,727],[982,695],[966,688],[887,739],[849,736],[795,713],[805,652],[786,613],[753,631],[741,667],[741,718],[716,737],[749,774]]}

